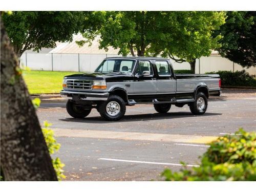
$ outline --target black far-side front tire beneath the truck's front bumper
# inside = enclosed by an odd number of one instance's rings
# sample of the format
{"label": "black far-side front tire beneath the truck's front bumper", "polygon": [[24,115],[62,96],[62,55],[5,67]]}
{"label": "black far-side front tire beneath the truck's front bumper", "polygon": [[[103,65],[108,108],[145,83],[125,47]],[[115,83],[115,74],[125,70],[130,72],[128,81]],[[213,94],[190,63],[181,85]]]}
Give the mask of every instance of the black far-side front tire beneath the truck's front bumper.
{"label": "black far-side front tire beneath the truck's front bumper", "polygon": [[67,101],[66,109],[69,115],[74,118],[84,118],[88,116],[92,111],[92,109],[84,109],[79,106],[76,106],[76,104],[71,100]]}

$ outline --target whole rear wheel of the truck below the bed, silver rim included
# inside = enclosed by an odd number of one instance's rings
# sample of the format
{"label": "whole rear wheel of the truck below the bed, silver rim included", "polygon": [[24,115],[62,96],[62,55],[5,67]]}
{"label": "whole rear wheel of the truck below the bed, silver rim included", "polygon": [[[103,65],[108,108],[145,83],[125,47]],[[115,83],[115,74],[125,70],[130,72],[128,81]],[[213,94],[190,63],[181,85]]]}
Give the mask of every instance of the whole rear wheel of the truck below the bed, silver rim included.
{"label": "whole rear wheel of the truck below the bed, silver rim included", "polygon": [[207,110],[207,106],[207,97],[203,92],[199,92],[196,96],[195,101],[189,105],[189,109],[194,115],[203,115]]}

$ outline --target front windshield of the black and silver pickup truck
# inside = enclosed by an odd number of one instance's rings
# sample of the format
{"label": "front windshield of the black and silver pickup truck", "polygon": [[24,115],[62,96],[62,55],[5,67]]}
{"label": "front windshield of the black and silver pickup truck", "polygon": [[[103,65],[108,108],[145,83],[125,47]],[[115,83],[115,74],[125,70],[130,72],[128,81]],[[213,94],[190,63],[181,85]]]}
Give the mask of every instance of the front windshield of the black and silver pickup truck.
{"label": "front windshield of the black and silver pickup truck", "polygon": [[106,59],[100,63],[95,72],[121,72],[132,73],[136,60]]}

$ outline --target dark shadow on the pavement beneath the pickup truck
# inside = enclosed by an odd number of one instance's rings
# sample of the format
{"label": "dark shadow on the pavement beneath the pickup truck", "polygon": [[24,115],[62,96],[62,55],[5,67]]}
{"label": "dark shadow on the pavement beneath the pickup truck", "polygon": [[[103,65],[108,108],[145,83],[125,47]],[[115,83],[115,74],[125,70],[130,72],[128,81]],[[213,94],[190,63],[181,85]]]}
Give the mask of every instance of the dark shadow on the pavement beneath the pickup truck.
{"label": "dark shadow on the pavement beneath the pickup truck", "polygon": [[84,122],[84,123],[118,123],[118,122],[132,122],[132,121],[150,121],[150,120],[161,120],[161,119],[176,119],[176,118],[187,118],[187,117],[202,117],[202,116],[215,116],[222,115],[222,113],[205,113],[204,115],[193,115],[190,112],[176,112],[176,113],[154,113],[154,114],[138,114],[138,115],[125,115],[119,121],[106,121],[99,117],[86,117],[83,119],[66,118],[59,119],[60,121],[68,122]]}

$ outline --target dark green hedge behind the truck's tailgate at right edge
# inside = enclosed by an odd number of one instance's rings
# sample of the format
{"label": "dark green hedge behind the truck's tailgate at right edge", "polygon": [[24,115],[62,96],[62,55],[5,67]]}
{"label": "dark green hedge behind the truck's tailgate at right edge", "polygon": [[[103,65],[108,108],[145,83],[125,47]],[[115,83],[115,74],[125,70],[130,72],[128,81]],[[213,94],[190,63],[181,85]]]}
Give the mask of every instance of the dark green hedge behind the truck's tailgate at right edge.
{"label": "dark green hedge behind the truck's tailgate at right edge", "polygon": [[256,79],[245,70],[242,71],[217,71],[206,74],[219,74],[222,86],[249,86],[256,87]]}

